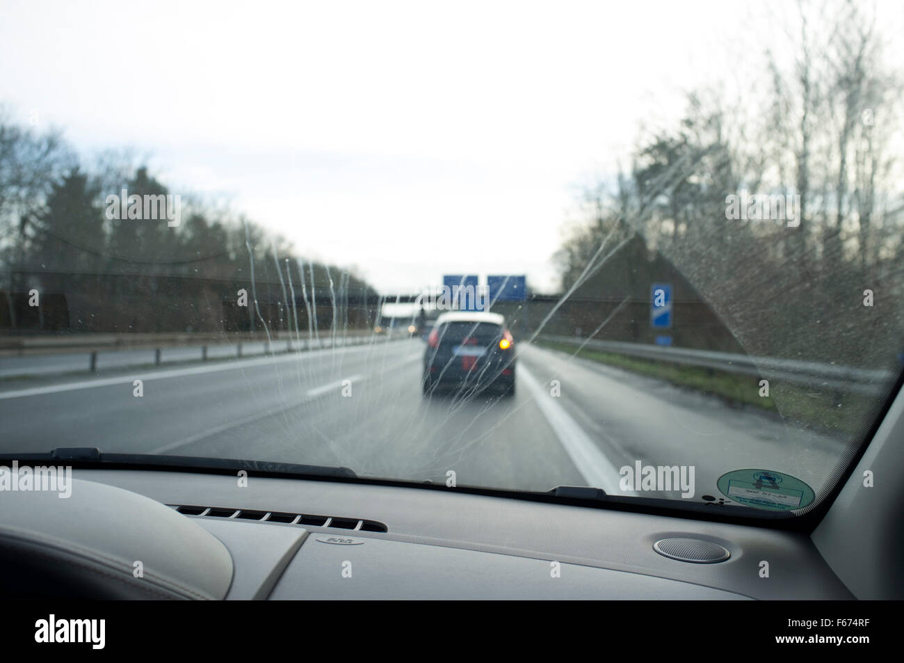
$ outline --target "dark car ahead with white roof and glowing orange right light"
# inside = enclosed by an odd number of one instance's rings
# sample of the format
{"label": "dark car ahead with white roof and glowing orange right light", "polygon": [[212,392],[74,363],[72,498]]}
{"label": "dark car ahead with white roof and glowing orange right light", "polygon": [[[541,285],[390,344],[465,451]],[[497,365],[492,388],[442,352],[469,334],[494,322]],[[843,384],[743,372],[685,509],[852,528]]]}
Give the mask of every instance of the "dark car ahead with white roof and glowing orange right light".
{"label": "dark car ahead with white roof and glowing orange right light", "polygon": [[437,318],[424,352],[424,393],[452,386],[514,394],[514,341],[496,313],[454,311]]}

